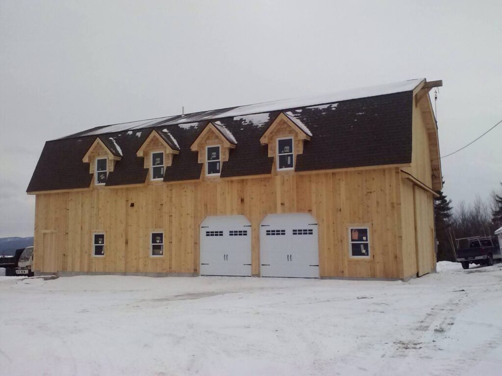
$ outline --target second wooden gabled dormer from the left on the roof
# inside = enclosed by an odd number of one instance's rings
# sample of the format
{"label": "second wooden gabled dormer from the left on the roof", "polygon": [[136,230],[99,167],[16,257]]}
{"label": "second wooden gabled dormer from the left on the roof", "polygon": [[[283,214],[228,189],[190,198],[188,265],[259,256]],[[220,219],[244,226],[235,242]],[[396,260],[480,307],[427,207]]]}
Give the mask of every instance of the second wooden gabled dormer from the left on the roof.
{"label": "second wooden gabled dormer from the left on the roof", "polygon": [[148,168],[147,181],[162,181],[166,167],[173,163],[173,156],[180,152],[178,142],[167,129],[152,130],[145,142],[136,152],[144,158],[144,167]]}

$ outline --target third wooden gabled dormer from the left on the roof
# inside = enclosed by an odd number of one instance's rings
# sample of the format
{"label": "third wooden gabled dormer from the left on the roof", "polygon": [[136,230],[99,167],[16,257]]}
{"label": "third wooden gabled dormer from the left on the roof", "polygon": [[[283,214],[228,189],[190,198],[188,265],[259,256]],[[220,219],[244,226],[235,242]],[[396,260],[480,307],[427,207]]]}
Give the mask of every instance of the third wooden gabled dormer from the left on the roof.
{"label": "third wooden gabled dormer from the left on the roof", "polygon": [[223,162],[228,161],[230,149],[237,144],[232,133],[219,121],[209,122],[190,146],[204,163],[203,176],[219,177]]}

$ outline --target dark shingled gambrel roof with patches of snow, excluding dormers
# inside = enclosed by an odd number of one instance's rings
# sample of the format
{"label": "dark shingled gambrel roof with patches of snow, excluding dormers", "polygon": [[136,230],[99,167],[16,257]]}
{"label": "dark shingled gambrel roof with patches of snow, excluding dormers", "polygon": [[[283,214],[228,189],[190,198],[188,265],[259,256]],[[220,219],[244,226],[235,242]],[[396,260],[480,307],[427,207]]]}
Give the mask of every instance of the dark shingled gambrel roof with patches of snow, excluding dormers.
{"label": "dark shingled gambrel roof with patches of snow, excluding dormers", "polygon": [[164,181],[199,179],[202,164],[190,145],[209,122],[236,145],[222,178],[270,174],[273,158],[260,138],[281,112],[311,135],[296,171],[411,163],[413,95],[424,81],[92,128],[47,141],[28,192],[88,187],[92,176],[82,156],[98,136],[121,153],[106,185],[144,183],[148,169],[136,152],[152,129],[179,150]]}

